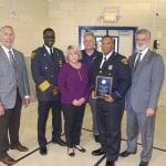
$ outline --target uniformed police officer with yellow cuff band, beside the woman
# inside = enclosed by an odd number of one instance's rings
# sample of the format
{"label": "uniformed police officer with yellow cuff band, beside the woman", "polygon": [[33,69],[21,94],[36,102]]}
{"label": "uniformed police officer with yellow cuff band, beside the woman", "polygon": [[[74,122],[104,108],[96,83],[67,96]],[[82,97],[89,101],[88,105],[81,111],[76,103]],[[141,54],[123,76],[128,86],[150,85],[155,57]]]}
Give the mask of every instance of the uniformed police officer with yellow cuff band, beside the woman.
{"label": "uniformed police officer with yellow cuff band, beside the woman", "polygon": [[31,70],[38,97],[38,142],[40,154],[46,155],[45,125],[50,108],[52,110],[52,143],[65,146],[61,139],[61,103],[58,89],[59,69],[64,63],[63,52],[53,48],[54,31],[43,31],[44,45],[32,52]]}

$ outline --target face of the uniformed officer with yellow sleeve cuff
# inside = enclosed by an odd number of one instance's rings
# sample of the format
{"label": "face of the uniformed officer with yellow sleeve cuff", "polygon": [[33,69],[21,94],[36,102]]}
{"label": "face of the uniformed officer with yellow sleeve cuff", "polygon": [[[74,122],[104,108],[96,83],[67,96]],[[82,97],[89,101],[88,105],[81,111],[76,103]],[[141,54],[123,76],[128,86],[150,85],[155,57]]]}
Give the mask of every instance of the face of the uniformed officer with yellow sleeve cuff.
{"label": "face of the uniformed officer with yellow sleeve cuff", "polygon": [[43,34],[44,44],[49,48],[52,48],[55,42],[55,34],[53,31],[48,30]]}

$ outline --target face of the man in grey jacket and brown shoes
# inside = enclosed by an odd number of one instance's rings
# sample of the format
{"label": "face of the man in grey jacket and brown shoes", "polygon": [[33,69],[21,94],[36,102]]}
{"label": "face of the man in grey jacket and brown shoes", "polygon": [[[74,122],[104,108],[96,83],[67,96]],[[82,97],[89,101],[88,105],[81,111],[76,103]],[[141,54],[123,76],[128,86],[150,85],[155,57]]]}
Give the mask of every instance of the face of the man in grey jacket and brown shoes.
{"label": "face of the man in grey jacket and brown shoes", "polygon": [[14,32],[11,27],[3,27],[0,31],[0,42],[7,49],[11,49],[14,43]]}

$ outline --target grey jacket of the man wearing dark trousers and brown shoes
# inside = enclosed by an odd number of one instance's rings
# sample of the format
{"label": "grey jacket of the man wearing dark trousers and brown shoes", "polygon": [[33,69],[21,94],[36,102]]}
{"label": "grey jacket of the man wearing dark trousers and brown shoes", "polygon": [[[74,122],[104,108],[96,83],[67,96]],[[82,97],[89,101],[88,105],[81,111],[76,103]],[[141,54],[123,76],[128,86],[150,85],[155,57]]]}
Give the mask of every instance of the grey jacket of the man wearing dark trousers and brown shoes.
{"label": "grey jacket of the man wearing dark trousers and brown shoes", "polygon": [[3,49],[0,46],[0,103],[4,108],[13,108],[17,98],[17,89],[23,98],[30,95],[27,68],[23,54],[13,49],[17,72],[13,70]]}

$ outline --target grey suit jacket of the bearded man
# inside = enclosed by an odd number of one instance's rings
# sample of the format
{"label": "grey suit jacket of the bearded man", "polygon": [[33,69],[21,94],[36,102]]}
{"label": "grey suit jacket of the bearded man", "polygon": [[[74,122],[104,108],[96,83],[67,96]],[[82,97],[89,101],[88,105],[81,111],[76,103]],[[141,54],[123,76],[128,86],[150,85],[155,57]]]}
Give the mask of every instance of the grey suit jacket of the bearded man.
{"label": "grey suit jacket of the bearded man", "polygon": [[132,86],[126,97],[126,108],[145,112],[147,107],[156,108],[159,91],[164,80],[164,62],[159,54],[148,50],[134,71],[136,54],[129,56],[132,68]]}

